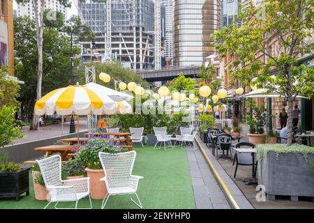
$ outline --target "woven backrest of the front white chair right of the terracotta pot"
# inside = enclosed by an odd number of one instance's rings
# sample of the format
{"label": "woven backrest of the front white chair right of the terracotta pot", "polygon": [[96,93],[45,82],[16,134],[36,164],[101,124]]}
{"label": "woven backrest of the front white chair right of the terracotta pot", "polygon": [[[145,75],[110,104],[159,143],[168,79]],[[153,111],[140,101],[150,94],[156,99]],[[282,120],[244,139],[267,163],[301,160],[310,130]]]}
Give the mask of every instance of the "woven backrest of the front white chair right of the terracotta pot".
{"label": "woven backrest of the front white chair right of the terracotta pot", "polygon": [[106,187],[128,187],[136,152],[114,154],[99,152],[98,155],[105,171]]}

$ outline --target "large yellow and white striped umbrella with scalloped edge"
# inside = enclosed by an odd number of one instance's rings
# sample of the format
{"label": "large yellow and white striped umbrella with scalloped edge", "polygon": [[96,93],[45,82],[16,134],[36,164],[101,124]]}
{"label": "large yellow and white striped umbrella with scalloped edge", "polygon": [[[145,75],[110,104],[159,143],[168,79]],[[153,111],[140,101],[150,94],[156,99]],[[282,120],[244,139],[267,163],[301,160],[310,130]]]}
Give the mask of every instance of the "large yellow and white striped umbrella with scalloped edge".
{"label": "large yellow and white striped umbrella with scalloped edge", "polygon": [[99,84],[70,85],[51,91],[40,98],[35,105],[35,114],[52,115],[54,112],[61,115],[130,113],[132,107],[126,100],[132,98],[133,96]]}

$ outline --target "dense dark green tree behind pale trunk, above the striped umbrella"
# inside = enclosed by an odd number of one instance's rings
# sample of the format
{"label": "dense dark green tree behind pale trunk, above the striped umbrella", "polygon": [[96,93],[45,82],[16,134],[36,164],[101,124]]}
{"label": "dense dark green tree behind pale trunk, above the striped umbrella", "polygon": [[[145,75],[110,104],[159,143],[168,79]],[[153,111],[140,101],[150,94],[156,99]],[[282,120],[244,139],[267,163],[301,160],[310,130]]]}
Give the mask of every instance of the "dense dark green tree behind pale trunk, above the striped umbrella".
{"label": "dense dark green tree behind pale trunk, above the striped umbrella", "polygon": [[[38,76],[38,58],[36,47],[35,22],[30,17],[18,17],[14,20],[15,38],[15,76],[25,84],[20,91],[22,117],[33,115],[37,97],[36,79]],[[79,47],[73,48],[74,55],[80,53]],[[47,27],[43,31],[43,94],[70,84],[70,40],[68,36],[55,28]],[[78,66],[75,59],[74,66]]]}

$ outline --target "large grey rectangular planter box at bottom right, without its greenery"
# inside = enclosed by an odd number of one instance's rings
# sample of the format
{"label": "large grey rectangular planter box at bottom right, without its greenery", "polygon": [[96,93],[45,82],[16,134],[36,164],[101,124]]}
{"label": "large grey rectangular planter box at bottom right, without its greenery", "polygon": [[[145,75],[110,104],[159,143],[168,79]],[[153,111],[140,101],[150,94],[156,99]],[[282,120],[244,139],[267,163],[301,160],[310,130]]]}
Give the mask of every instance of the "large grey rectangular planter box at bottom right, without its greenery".
{"label": "large grey rectangular planter box at bottom right, without its greenery", "polygon": [[276,160],[276,153],[269,151],[267,159],[257,167],[258,184],[265,186],[270,201],[276,195],[290,196],[292,201],[298,201],[299,196],[314,197],[313,159],[313,154],[308,154],[306,162],[301,154],[281,153]]}

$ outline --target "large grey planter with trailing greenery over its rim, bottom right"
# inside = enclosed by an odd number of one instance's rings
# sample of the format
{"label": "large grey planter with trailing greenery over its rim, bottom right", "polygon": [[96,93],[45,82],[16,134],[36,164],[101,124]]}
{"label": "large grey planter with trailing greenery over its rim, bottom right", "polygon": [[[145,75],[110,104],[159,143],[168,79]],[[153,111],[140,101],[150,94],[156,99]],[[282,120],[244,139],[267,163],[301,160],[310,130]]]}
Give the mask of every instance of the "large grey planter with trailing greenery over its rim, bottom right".
{"label": "large grey planter with trailing greenery over its rim, bottom right", "polygon": [[269,200],[276,195],[314,197],[314,148],[299,144],[260,144],[257,148],[257,180]]}

